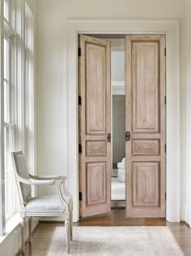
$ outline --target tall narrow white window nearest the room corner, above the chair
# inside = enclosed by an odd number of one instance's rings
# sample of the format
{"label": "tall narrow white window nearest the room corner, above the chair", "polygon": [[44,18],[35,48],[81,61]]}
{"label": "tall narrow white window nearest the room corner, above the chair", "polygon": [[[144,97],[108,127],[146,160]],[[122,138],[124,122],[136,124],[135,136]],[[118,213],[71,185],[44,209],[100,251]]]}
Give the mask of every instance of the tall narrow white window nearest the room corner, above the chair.
{"label": "tall narrow white window nearest the room corner, above the chair", "polygon": [[24,98],[23,98],[23,152],[26,155],[28,168],[34,174],[35,124],[34,124],[34,20],[32,11],[25,2],[24,19]]}

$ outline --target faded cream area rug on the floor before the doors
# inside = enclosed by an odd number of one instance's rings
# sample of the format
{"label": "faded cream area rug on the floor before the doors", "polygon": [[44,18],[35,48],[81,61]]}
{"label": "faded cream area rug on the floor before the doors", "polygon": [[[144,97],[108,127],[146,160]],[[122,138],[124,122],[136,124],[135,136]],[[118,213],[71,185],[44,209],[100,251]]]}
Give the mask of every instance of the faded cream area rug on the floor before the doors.
{"label": "faded cream area rug on the floor before the doors", "polygon": [[[66,253],[65,228],[53,232],[47,256]],[[74,227],[70,255],[75,256],[182,256],[167,227]]]}

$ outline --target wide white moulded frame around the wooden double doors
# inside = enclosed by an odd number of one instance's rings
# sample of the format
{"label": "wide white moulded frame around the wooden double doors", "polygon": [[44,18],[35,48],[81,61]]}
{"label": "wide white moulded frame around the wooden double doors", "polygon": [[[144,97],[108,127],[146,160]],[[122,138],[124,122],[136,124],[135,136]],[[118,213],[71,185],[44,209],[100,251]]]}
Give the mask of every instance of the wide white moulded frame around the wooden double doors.
{"label": "wide white moulded frame around the wooden double doors", "polygon": [[179,20],[67,20],[67,167],[79,220],[78,34],[166,34],[167,36],[167,214],[180,222],[180,22]]}

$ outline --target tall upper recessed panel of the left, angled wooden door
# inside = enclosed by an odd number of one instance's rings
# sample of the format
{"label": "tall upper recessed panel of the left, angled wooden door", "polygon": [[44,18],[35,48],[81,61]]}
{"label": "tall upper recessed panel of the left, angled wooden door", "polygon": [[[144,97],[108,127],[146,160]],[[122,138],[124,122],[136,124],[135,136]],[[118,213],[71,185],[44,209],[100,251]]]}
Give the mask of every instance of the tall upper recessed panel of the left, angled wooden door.
{"label": "tall upper recessed panel of the left, angled wooden door", "polygon": [[[87,135],[106,134],[106,50],[105,46],[86,44],[86,118]],[[99,104],[98,104],[99,102]]]}

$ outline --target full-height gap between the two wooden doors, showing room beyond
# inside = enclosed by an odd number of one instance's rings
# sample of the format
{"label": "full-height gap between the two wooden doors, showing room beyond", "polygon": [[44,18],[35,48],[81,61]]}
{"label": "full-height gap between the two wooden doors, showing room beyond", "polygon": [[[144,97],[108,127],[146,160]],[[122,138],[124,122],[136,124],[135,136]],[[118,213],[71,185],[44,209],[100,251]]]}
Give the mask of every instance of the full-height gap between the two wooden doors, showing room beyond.
{"label": "full-height gap between the two wooden doors, showing room beyond", "polygon": [[125,38],[111,38],[111,207],[125,208]]}

